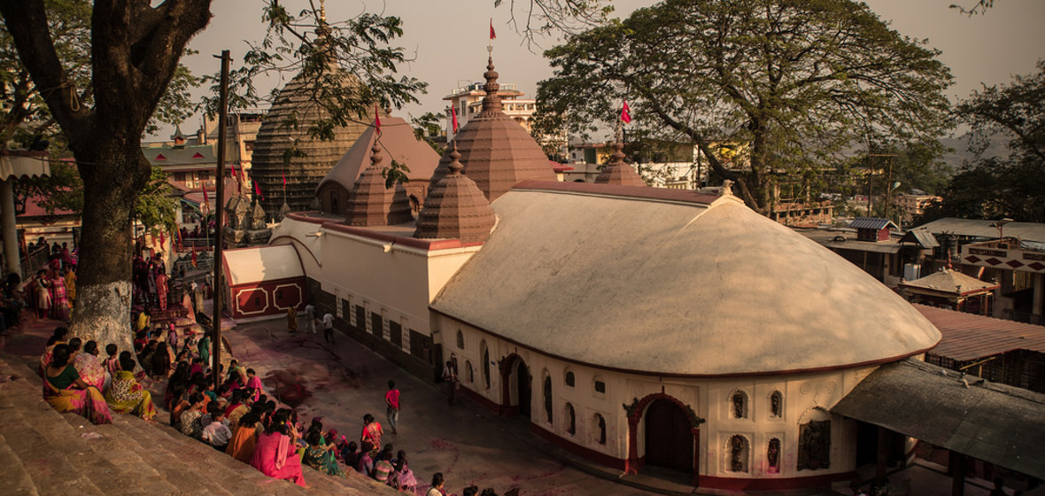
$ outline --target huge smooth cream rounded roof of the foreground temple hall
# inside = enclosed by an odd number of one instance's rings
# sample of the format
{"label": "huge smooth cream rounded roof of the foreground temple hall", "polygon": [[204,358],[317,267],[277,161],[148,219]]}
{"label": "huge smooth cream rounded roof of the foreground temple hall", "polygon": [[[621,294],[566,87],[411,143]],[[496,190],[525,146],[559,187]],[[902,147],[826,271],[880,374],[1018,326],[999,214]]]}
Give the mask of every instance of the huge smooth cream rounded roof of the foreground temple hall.
{"label": "huge smooth cream rounded roof of the foreground temple hall", "polygon": [[655,375],[864,367],[940,333],[856,265],[732,195],[530,182],[432,309],[562,360]]}

